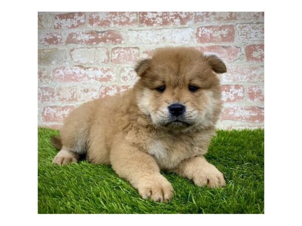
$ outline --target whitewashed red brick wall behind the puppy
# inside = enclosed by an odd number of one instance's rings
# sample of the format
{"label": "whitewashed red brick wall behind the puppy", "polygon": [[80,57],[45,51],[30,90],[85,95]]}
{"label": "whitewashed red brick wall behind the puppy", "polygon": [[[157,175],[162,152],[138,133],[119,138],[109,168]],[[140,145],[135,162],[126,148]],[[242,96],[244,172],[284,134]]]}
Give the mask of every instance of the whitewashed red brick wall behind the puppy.
{"label": "whitewashed red brick wall behind the puppy", "polygon": [[264,13],[38,13],[38,124],[59,128],[88,100],[133,85],[133,66],[166,46],[221,57],[218,128],[264,126]]}

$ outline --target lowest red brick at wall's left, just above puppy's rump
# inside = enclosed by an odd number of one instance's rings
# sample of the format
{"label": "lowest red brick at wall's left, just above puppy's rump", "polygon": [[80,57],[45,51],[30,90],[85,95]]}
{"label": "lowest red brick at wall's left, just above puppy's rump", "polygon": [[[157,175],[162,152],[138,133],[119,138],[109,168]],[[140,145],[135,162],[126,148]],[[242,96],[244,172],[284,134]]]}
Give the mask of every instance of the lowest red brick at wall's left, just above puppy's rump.
{"label": "lowest red brick at wall's left, just above puppy's rump", "polygon": [[63,122],[74,106],[45,106],[42,111],[43,122]]}

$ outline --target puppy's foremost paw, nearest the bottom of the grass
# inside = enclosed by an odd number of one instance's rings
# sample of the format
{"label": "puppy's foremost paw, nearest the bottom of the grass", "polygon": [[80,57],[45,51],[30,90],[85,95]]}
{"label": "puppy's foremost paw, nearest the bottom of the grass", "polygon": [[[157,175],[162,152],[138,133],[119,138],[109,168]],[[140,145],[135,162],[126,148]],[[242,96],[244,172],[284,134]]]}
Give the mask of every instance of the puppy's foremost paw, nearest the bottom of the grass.
{"label": "puppy's foremost paw, nearest the bottom of the grass", "polygon": [[174,195],[173,187],[168,181],[166,183],[155,181],[148,186],[138,189],[138,191],[142,198],[150,198],[157,202],[167,202]]}

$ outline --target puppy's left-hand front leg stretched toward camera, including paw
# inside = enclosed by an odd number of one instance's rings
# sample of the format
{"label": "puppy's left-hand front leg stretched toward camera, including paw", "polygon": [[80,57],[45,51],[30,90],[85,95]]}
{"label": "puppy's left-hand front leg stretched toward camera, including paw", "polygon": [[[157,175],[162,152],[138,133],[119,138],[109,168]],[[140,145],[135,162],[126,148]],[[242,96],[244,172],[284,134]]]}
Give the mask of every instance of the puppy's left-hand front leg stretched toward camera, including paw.
{"label": "puppy's left-hand front leg stretched toward camera, including paw", "polygon": [[154,158],[131,145],[119,143],[110,153],[112,168],[136,188],[142,198],[168,201],[173,197],[173,187],[160,173]]}

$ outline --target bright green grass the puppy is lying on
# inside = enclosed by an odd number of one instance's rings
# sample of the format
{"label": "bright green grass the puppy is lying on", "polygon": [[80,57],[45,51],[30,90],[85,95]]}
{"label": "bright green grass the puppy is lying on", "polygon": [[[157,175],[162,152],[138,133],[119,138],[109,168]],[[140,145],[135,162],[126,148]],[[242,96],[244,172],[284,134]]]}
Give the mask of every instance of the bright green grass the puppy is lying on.
{"label": "bright green grass the puppy is lying on", "polygon": [[58,131],[38,130],[39,213],[264,213],[263,130],[218,131],[206,158],[223,172],[223,189],[163,172],[175,190],[167,203],[143,200],[110,166],[51,164],[53,135]]}

